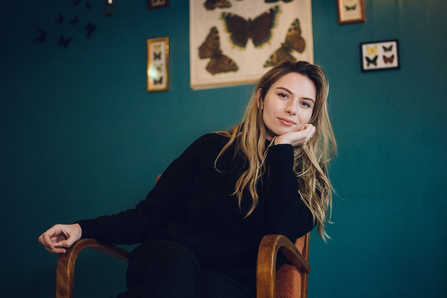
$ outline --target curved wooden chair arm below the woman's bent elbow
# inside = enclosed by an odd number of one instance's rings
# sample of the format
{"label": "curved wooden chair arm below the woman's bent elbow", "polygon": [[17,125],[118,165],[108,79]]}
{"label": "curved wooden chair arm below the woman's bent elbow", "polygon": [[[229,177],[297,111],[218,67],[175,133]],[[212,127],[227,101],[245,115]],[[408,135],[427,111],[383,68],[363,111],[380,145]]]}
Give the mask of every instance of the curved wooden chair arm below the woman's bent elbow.
{"label": "curved wooden chair arm below the woman's bent elbow", "polygon": [[310,266],[295,245],[282,235],[266,235],[258,251],[256,292],[258,298],[276,297],[276,259],[280,251],[300,273],[309,274]]}

